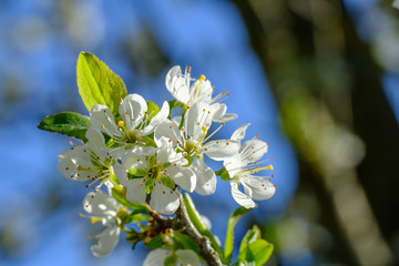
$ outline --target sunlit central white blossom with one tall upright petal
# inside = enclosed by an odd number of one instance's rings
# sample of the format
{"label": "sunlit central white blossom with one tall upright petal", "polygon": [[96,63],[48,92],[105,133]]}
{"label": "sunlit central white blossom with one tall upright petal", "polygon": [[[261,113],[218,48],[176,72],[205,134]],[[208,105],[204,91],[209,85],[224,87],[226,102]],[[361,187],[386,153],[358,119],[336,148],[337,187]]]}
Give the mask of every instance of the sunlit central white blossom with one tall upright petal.
{"label": "sunlit central white blossom with one tall upright petal", "polygon": [[195,192],[201,195],[209,195],[216,188],[216,175],[204,163],[203,154],[215,161],[223,161],[235,154],[239,149],[239,142],[234,140],[208,141],[222,126],[213,133],[208,133],[213,113],[211,106],[204,102],[197,102],[188,109],[184,116],[183,127],[180,130],[180,120],[164,121],[155,129],[154,140],[160,143],[162,137],[170,139],[186,158],[192,160],[191,168],[197,176]]}

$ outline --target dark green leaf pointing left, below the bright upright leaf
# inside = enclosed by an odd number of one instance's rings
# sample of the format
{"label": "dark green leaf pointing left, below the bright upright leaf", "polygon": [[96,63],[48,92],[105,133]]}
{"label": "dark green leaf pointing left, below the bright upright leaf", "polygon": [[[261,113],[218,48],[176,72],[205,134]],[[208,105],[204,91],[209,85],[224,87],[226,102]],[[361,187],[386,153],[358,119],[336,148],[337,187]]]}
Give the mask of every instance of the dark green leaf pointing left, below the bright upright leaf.
{"label": "dark green leaf pointing left, below the bright upright leaf", "polygon": [[40,130],[69,135],[84,142],[88,141],[85,132],[90,126],[91,123],[88,116],[73,112],[47,116],[38,125]]}

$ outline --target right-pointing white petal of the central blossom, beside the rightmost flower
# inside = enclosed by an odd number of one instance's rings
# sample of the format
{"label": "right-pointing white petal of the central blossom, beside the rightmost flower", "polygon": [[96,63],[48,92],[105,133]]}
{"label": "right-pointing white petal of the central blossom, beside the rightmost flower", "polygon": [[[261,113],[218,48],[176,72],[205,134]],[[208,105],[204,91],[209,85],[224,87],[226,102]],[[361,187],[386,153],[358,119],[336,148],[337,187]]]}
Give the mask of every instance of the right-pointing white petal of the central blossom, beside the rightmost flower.
{"label": "right-pointing white petal of the central blossom, beside the rightmost flower", "polygon": [[203,146],[203,152],[215,161],[226,160],[239,150],[239,142],[237,141],[211,141]]}

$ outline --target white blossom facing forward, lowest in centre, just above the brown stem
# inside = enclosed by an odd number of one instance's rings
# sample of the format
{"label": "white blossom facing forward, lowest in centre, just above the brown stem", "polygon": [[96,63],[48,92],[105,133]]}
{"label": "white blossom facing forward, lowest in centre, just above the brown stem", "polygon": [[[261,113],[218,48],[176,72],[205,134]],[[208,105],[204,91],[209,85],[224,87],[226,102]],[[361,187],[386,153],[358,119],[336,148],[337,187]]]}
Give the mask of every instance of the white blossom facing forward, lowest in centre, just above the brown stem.
{"label": "white blossom facing forward, lowest in centre, just above the brown stem", "polygon": [[[115,173],[120,183],[126,187],[129,201],[144,203],[147,194],[151,194],[150,206],[153,209],[172,214],[180,205],[174,186],[178,185],[188,192],[195,188],[196,176],[187,164],[181,153],[174,152],[172,142],[161,137],[153,155],[143,154],[137,149],[127,151],[122,163],[115,166]],[[127,178],[130,174],[133,178]]]}

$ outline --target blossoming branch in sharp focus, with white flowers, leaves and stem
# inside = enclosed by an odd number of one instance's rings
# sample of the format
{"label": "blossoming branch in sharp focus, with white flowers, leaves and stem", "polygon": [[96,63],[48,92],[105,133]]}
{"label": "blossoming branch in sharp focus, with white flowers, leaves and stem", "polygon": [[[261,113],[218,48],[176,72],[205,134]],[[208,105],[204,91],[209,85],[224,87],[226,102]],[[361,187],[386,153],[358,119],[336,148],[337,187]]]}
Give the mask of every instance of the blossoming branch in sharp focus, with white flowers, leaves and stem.
{"label": "blossoming branch in sharp focus, with white flowers, leaves and stem", "polygon": [[[133,248],[140,242],[151,249],[144,265],[263,265],[273,245],[260,238],[257,226],[241,242],[238,259],[232,263],[233,229],[238,219],[275,193],[273,170],[263,165],[268,144],[257,136],[242,143],[249,124],[239,126],[229,140],[213,140],[223,125],[237,117],[226,113],[222,92],[204,75],[191,76],[173,66],[166,89],[174,100],[158,108],[139,94],[129,94],[120,76],[102,61],[81,52],[76,66],[79,93],[90,117],[63,112],[43,119],[39,129],[80,141],[59,155],[58,170],[69,180],[92,188],[83,200],[85,214],[104,229],[91,247],[94,256],[111,253],[124,232]],[[172,116],[173,109],[181,110]],[[213,123],[219,124],[211,132]],[[213,171],[204,156],[222,161]],[[233,198],[242,205],[227,222],[224,247],[209,231],[190,193],[211,195],[217,177],[229,182]],[[244,192],[239,190],[243,186]],[[136,224],[140,231],[131,225]]]}

